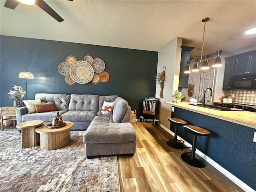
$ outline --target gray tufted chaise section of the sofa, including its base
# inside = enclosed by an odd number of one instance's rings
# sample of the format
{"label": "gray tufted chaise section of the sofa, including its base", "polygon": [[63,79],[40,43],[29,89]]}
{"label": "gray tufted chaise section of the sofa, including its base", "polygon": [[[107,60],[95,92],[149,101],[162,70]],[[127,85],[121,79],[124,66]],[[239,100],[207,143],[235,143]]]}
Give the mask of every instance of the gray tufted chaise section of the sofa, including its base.
{"label": "gray tufted chaise section of the sofa, including its base", "polygon": [[110,116],[96,116],[84,133],[84,143],[88,159],[113,154],[134,156],[136,132],[130,122],[114,123]]}

